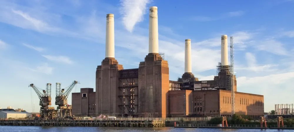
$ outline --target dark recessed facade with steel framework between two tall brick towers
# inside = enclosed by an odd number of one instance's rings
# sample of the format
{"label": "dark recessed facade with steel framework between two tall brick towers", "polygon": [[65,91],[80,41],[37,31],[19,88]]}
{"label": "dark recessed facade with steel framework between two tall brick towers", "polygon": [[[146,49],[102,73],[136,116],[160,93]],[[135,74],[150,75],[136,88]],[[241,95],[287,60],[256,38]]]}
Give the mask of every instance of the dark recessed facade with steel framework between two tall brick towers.
{"label": "dark recessed facade with steel framework between two tall brick towers", "polygon": [[118,107],[123,110],[122,116],[138,117],[138,69],[127,69],[120,71],[121,94],[118,97],[121,104]]}

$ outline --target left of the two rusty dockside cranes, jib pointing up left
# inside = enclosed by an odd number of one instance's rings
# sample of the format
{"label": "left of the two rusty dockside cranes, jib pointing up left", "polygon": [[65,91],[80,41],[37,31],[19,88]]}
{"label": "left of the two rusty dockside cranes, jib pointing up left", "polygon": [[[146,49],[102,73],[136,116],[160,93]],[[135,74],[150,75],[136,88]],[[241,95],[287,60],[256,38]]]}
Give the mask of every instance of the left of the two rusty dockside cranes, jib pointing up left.
{"label": "left of the two rusty dockside cranes, jib pointing up left", "polygon": [[39,89],[34,84],[30,84],[40,99],[40,118],[41,119],[53,119],[56,117],[56,111],[51,105],[51,83],[46,84],[46,90]]}

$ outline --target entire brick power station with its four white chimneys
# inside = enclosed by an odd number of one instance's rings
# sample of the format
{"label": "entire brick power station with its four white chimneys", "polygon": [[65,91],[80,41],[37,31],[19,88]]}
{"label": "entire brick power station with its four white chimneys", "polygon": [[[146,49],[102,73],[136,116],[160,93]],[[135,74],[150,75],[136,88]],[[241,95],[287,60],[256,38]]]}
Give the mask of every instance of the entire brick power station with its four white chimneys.
{"label": "entire brick power station with its four white chimneys", "polygon": [[171,81],[168,62],[158,52],[157,7],[149,9],[149,52],[136,69],[123,69],[115,59],[114,15],[107,14],[105,58],[96,68],[96,92],[88,89],[96,96],[83,97],[87,92],[82,89],[73,93],[73,114],[89,114],[95,106],[96,115],[133,117],[263,115],[263,95],[237,92],[233,67],[228,63],[227,39],[227,35],[221,36],[218,76],[207,81],[193,75],[191,40],[186,39],[185,71],[177,81]]}

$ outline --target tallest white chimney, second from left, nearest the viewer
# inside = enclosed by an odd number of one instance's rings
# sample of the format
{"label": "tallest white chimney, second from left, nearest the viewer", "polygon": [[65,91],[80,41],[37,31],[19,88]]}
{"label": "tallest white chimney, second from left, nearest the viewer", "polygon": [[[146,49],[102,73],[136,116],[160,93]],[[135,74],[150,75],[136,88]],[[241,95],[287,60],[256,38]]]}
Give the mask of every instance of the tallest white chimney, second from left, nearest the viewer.
{"label": "tallest white chimney, second from left, nearest the viewer", "polygon": [[158,15],[157,7],[149,9],[149,53],[158,53]]}

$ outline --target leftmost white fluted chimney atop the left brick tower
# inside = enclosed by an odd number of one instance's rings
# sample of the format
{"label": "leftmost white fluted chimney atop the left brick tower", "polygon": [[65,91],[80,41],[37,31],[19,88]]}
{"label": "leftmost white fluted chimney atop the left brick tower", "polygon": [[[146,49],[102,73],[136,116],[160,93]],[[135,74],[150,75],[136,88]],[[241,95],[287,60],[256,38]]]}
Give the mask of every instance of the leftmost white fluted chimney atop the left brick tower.
{"label": "leftmost white fluted chimney atop the left brick tower", "polygon": [[114,58],[114,15],[106,15],[106,46],[105,58]]}

